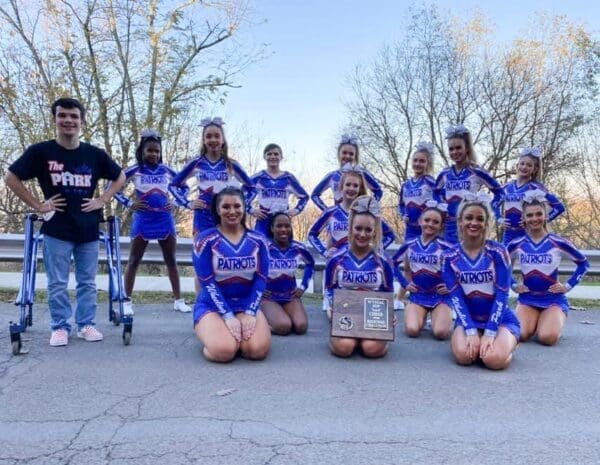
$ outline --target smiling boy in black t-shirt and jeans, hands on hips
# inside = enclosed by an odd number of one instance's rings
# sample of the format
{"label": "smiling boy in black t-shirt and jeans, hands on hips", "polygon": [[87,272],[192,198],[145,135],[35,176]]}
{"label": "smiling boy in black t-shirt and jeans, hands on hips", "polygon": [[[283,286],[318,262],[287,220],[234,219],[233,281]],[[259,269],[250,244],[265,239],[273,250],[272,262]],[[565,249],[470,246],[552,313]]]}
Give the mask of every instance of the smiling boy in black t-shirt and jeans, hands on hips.
{"label": "smiling boy in black t-shirt and jeans, hands on hips", "polygon": [[[121,189],[125,175],[104,150],[80,142],[85,108],[78,100],[58,99],[52,105],[52,118],[56,139],[28,147],[9,167],[5,181],[27,205],[46,214],[41,231],[52,320],[50,345],[64,346],[71,331],[67,292],[71,257],[77,281],[77,336],[102,340],[102,333],[94,327],[99,223],[104,204]],[[32,178],[38,180],[45,200],[38,200],[23,184]],[[99,179],[113,182],[94,198]]]}

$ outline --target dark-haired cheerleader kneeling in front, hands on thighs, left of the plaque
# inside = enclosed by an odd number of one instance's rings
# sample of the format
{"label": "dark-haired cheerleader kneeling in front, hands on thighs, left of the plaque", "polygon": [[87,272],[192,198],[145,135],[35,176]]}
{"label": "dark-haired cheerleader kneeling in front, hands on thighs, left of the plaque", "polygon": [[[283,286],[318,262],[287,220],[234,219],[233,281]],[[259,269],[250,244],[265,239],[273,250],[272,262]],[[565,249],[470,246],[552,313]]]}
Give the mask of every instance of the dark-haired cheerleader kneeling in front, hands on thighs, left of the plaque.
{"label": "dark-haired cheerleader kneeling in front, hands on thighs, left of the plaque", "polygon": [[229,362],[238,353],[252,360],[267,356],[269,324],[259,305],[269,273],[264,237],[246,229],[241,190],[226,187],[213,199],[215,228],[194,240],[194,268],[202,291],[194,306],[194,329],[204,356]]}

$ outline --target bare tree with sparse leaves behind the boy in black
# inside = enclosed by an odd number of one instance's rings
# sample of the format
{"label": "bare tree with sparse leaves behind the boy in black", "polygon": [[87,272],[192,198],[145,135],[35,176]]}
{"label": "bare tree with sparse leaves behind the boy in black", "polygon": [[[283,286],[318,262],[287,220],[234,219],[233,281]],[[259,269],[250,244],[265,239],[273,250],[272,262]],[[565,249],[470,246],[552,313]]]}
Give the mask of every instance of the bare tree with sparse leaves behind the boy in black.
{"label": "bare tree with sparse leaves behind the boy in black", "polygon": [[250,18],[246,0],[3,2],[2,159],[51,138],[49,105],[71,95],[89,109],[84,138],[122,166],[132,163],[143,127],[158,129],[163,158],[180,165],[199,146],[194,122],[203,108],[223,101],[262,56],[236,39]]}

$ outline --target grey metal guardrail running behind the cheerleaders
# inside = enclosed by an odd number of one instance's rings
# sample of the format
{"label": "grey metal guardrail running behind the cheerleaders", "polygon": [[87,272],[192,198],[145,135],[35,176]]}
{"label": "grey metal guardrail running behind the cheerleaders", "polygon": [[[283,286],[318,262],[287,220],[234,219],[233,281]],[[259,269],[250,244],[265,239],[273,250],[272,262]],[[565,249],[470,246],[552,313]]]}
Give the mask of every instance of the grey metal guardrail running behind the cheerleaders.
{"label": "grey metal guardrail running behind the cheerleaders", "polygon": [[[23,260],[23,234],[0,234],[0,262],[21,262]],[[192,239],[178,238],[176,257],[179,265],[192,265]],[[126,262],[129,257],[129,247],[131,240],[129,237],[121,236],[121,261]],[[313,275],[313,290],[315,293],[323,292],[323,273],[325,271],[325,259],[310,245],[306,243],[307,248],[315,258],[315,273]],[[393,254],[398,250],[400,244],[392,244],[387,250]],[[582,250],[581,251],[590,262],[588,275],[600,276],[600,250]],[[41,254],[38,257],[41,259]],[[106,261],[105,251],[100,247],[100,262]],[[142,263],[162,264],[164,263],[162,251],[157,241],[151,241],[146,248]],[[563,260],[560,264],[559,272],[562,274],[572,273],[575,265],[570,260]]]}

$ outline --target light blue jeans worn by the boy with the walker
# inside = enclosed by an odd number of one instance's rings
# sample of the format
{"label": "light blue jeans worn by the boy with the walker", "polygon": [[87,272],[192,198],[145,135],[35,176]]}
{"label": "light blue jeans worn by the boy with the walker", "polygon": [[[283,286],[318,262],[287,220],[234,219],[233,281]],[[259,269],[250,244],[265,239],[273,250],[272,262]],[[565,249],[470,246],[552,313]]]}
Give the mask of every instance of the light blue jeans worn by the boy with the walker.
{"label": "light blue jeans worn by the boy with the walker", "polygon": [[71,256],[75,263],[77,282],[77,307],[75,322],[78,329],[93,325],[96,317],[96,273],[98,272],[98,241],[61,241],[44,236],[44,265],[48,277],[48,308],[52,330],[63,328],[71,331],[69,319],[73,314],[67,283]]}

